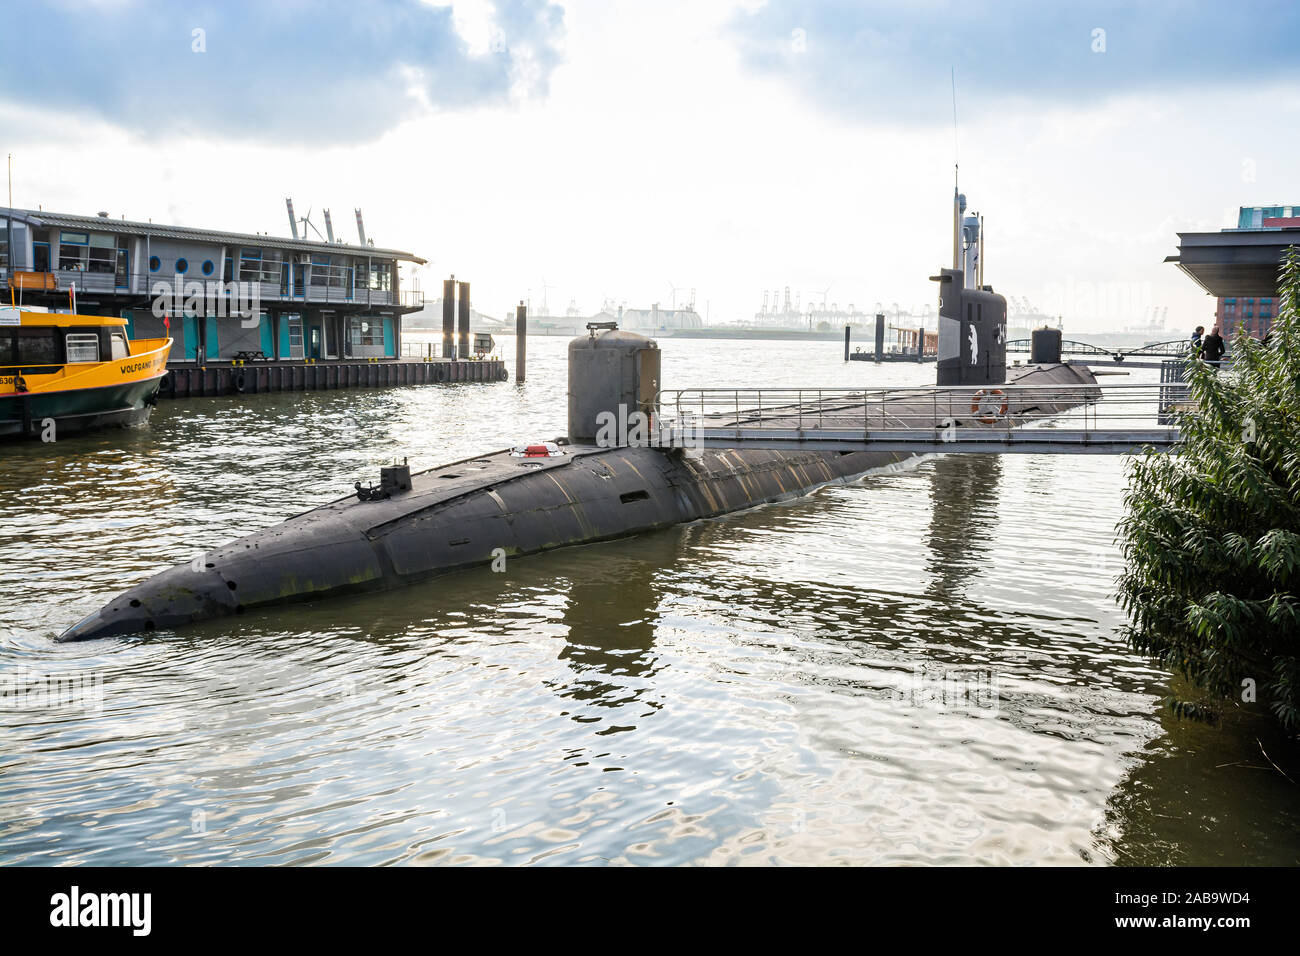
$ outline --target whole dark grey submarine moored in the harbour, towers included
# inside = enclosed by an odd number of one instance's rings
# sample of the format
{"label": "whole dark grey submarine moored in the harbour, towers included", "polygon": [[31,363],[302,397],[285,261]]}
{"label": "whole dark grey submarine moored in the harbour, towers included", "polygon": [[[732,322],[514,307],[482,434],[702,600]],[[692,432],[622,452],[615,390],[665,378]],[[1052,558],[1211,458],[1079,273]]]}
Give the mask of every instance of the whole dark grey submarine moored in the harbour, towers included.
{"label": "whole dark grey submarine moored in the harbour, towers included", "polygon": [[[1008,378],[1006,299],[982,282],[979,220],[963,221],[963,212],[965,196],[956,194],[953,268],[932,277],[940,289],[937,384],[1096,385],[1087,368],[1062,364],[1060,355],[1018,367]],[[346,497],[161,571],[57,640],[170,631],[255,609],[412,585],[502,557],[638,535],[805,496],[911,457],[755,447],[688,453],[610,441],[604,434],[610,416],[625,420],[636,410],[655,419],[660,373],[653,338],[612,323],[593,324],[568,345],[563,438],[417,473],[407,466],[382,468],[377,486],[356,483]],[[861,420],[862,406],[857,407]],[[1071,406],[1009,411],[1028,419],[1066,407]],[[916,403],[914,412],[933,418],[930,402]],[[972,408],[970,419],[954,424],[979,423]]]}

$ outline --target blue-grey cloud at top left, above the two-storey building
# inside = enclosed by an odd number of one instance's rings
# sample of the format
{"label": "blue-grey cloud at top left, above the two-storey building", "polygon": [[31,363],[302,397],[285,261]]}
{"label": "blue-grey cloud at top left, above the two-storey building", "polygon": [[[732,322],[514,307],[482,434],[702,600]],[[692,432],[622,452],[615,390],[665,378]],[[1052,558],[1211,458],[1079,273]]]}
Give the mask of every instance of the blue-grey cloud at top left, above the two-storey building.
{"label": "blue-grey cloud at top left, above the two-storey building", "polygon": [[0,100],[140,135],[373,139],[421,109],[547,92],[563,9],[485,7],[472,51],[450,7],[419,0],[25,4],[0,31]]}

